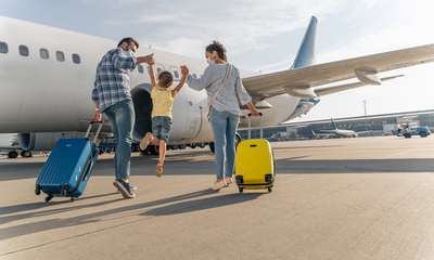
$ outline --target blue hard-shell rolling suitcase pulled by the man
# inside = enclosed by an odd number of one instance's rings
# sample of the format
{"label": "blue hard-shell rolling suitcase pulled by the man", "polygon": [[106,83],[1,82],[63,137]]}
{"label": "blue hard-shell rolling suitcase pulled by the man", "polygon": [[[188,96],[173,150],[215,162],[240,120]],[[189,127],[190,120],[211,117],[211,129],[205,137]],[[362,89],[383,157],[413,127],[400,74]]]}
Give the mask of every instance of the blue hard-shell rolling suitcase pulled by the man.
{"label": "blue hard-shell rolling suitcase pulled by the man", "polygon": [[102,122],[93,141],[90,141],[88,136],[92,123],[90,122],[84,138],[64,138],[55,143],[36,180],[35,194],[39,195],[41,191],[46,193],[47,203],[60,196],[71,197],[71,202],[74,202],[85,191],[100,154],[95,141]]}

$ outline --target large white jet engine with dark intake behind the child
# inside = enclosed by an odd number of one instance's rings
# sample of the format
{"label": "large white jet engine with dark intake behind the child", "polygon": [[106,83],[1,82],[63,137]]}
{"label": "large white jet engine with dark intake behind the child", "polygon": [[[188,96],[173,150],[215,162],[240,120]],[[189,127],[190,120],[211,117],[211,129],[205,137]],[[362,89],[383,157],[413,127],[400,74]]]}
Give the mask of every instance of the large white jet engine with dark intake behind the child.
{"label": "large white jet engine with dark intake behind the child", "polygon": [[[174,82],[174,86],[178,82]],[[171,88],[174,88],[174,86]],[[146,132],[152,132],[151,84],[139,84],[131,90],[136,112],[132,139],[142,140]],[[213,142],[209,123],[206,121],[206,93],[195,91],[187,84],[175,96],[173,125],[168,144],[189,144]]]}

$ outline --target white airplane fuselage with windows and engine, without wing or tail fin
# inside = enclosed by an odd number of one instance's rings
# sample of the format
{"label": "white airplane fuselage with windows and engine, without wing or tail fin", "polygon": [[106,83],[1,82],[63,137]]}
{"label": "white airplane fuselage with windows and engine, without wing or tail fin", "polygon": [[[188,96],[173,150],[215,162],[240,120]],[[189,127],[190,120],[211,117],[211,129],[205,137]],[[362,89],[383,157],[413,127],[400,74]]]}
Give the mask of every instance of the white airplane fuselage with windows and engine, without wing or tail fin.
{"label": "white airplane fuselage with windows and engine, without wing or tail fin", "polygon": [[[0,88],[3,93],[0,95],[0,132],[20,133],[21,140],[31,139],[31,134],[39,134],[41,139],[42,132],[52,136],[84,132],[93,113],[91,90],[97,64],[116,46],[117,41],[0,16]],[[180,65],[187,65],[190,74],[197,76],[206,67],[205,58],[148,48],[138,49],[136,55],[150,53],[154,53],[156,69],[171,72],[176,80],[180,77]],[[242,77],[258,75],[247,70],[241,73]],[[130,87],[136,109],[133,138],[140,140],[151,129],[151,84],[146,64],[130,72]],[[213,141],[205,119],[206,100],[205,91],[182,88],[174,102],[170,143]],[[276,126],[288,119],[298,100],[288,94],[268,99],[272,107],[261,110],[266,115],[264,126]],[[242,113],[240,128],[245,128],[247,110]],[[252,123],[257,127],[259,120],[255,118]],[[102,131],[111,131],[108,123]]]}

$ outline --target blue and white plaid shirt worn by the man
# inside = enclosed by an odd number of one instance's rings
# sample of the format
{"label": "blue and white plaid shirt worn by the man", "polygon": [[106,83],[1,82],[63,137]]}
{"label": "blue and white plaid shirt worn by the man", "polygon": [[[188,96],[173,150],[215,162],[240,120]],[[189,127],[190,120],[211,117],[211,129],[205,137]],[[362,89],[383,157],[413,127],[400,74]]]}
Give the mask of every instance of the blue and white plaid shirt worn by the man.
{"label": "blue and white plaid shirt worn by the man", "polygon": [[120,48],[110,50],[97,66],[92,101],[100,103],[100,113],[124,100],[131,100],[129,70],[137,60]]}

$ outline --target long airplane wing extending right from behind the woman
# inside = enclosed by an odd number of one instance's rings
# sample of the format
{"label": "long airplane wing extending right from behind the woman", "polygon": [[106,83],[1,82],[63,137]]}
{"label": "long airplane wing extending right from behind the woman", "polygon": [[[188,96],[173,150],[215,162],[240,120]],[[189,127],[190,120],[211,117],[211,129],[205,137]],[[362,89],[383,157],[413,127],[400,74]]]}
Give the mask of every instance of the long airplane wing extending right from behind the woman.
{"label": "long airplane wing extending right from behind the woman", "polygon": [[[365,84],[381,84],[379,73],[434,62],[434,44],[343,60],[284,72],[243,78],[244,88],[256,100],[289,93],[297,98],[317,98]],[[393,76],[383,80],[400,77]],[[358,78],[360,81],[327,90],[316,87]]]}

